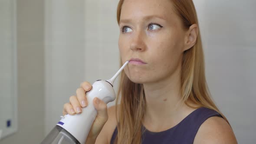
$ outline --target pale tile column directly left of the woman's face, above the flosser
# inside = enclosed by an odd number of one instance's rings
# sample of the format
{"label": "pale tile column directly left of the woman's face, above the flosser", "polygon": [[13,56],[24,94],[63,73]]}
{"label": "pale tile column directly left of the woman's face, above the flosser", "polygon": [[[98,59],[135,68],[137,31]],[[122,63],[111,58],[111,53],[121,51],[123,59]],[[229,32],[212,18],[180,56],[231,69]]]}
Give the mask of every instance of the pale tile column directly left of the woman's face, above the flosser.
{"label": "pale tile column directly left of the woman's face, above the flosser", "polygon": [[110,79],[119,69],[117,4],[118,0],[86,0],[85,79],[89,82]]}

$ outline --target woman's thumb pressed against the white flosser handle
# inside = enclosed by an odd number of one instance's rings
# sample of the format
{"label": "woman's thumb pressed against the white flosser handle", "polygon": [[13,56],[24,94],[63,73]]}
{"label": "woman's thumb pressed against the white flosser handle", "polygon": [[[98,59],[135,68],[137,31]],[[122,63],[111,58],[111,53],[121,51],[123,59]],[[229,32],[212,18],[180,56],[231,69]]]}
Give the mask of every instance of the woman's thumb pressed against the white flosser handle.
{"label": "woman's thumb pressed against the white flosser handle", "polygon": [[108,120],[107,104],[99,98],[93,99],[94,108],[98,111],[96,119],[105,124]]}

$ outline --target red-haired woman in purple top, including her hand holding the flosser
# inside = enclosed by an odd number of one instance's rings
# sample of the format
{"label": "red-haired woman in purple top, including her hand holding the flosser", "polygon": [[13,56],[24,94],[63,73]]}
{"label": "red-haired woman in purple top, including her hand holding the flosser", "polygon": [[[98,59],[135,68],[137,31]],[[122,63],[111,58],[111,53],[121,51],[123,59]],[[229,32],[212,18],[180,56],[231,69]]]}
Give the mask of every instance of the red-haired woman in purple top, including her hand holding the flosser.
{"label": "red-haired woman in purple top, including her hand holding the flosser", "polygon": [[[98,111],[86,144],[236,144],[210,98],[192,0],[120,0],[121,103]],[[87,105],[83,82],[63,115]],[[120,99],[119,97],[117,98]]]}

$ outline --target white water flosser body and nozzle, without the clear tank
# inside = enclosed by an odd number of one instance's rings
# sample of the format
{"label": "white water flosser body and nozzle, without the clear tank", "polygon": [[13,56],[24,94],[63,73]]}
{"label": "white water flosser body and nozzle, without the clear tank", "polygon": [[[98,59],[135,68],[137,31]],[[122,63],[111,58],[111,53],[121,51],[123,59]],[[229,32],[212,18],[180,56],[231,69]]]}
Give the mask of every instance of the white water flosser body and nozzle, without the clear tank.
{"label": "white water flosser body and nozzle, without the clear tank", "polygon": [[106,104],[115,100],[115,91],[113,83],[117,76],[128,64],[128,61],[118,70],[118,72],[109,80],[96,81],[92,84],[92,89],[86,92],[88,105],[82,108],[82,113],[77,115],[65,115],[58,122],[57,125],[66,129],[72,134],[81,144],[85,144],[86,138],[92,127],[92,123],[97,116],[97,110],[93,106],[93,99],[95,97],[100,98]]}

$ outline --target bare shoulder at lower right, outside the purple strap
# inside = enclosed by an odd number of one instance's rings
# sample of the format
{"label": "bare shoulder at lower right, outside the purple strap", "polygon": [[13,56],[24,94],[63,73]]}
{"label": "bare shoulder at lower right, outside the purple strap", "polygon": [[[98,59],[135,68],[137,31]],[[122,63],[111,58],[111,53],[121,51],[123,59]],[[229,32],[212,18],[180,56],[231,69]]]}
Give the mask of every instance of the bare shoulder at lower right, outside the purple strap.
{"label": "bare shoulder at lower right, outside the purple strap", "polygon": [[200,126],[194,144],[237,144],[230,125],[220,117],[210,117]]}

